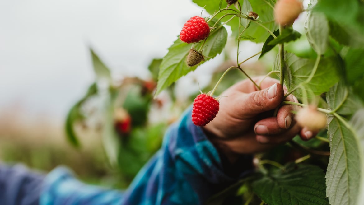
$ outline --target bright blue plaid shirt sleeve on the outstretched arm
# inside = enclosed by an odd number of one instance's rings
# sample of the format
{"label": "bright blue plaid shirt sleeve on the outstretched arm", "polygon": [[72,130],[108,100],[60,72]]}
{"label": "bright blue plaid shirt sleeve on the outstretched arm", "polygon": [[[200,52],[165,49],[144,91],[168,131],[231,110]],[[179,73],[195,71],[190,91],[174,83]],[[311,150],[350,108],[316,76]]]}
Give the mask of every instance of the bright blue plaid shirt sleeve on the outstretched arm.
{"label": "bright blue plaid shirt sleeve on the outstretched arm", "polygon": [[252,157],[243,155],[234,166],[193,125],[189,109],[167,130],[161,149],[125,192],[85,185],[61,167],[46,177],[40,204],[203,204],[249,173]]}

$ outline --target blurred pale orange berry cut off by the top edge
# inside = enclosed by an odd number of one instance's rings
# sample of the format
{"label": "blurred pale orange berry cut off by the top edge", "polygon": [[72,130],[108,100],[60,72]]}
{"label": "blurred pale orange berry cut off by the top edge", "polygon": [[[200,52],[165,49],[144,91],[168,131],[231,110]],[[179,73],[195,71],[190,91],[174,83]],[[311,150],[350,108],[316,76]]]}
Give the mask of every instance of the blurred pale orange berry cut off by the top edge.
{"label": "blurred pale orange berry cut off by the top edge", "polygon": [[280,25],[291,25],[302,12],[300,0],[278,0],[274,6],[274,19]]}

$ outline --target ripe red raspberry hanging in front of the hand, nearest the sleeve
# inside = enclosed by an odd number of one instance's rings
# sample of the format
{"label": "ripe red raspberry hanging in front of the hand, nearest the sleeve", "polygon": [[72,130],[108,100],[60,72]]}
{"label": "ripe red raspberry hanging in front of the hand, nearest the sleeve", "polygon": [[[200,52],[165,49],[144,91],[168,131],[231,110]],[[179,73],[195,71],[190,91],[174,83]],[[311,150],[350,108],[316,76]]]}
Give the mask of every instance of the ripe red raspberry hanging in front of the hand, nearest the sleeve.
{"label": "ripe red raspberry hanging in front of the hand, nearest the sleeve", "polygon": [[193,102],[192,122],[197,126],[205,126],[216,117],[219,102],[207,94],[199,94]]}

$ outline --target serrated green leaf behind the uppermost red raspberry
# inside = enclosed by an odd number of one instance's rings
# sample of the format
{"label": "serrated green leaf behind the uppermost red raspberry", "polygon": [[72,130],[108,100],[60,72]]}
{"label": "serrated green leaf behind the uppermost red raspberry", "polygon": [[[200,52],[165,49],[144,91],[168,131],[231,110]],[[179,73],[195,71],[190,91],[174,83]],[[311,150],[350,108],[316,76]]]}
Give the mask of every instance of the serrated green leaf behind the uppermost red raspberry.
{"label": "serrated green leaf behind the uppermost red raspberry", "polygon": [[[207,37],[204,44],[202,54],[207,56],[205,61],[214,58],[217,54],[220,54],[225,47],[226,41],[226,28],[218,24],[218,27],[210,32],[209,37]],[[201,43],[196,43],[194,46],[199,48],[200,44]],[[155,95],[158,95],[163,89],[197,68],[197,66],[187,66],[186,63],[186,58],[191,46],[192,44],[184,43],[178,38],[173,43],[173,45],[168,48],[168,53],[163,58],[159,68],[157,91]],[[204,63],[205,61],[201,62],[200,64]]]}

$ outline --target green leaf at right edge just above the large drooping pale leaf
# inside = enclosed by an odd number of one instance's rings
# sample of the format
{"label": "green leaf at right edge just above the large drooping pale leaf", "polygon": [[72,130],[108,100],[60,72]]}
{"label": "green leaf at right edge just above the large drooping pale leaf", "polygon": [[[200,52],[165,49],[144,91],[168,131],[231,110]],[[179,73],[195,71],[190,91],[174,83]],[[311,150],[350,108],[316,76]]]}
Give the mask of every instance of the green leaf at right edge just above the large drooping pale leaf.
{"label": "green leaf at right edge just above the large drooping pale leaf", "polygon": [[361,100],[343,81],[335,84],[326,94],[329,108],[340,115],[352,115],[363,107]]}

